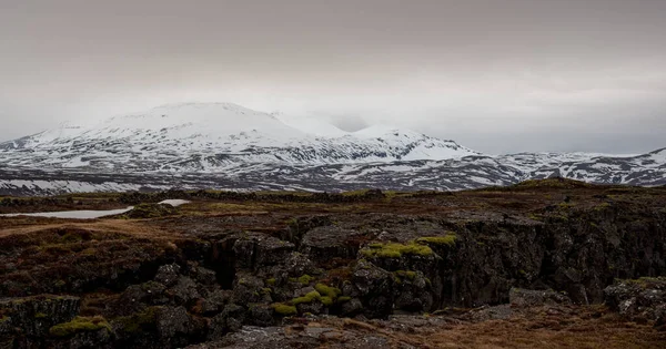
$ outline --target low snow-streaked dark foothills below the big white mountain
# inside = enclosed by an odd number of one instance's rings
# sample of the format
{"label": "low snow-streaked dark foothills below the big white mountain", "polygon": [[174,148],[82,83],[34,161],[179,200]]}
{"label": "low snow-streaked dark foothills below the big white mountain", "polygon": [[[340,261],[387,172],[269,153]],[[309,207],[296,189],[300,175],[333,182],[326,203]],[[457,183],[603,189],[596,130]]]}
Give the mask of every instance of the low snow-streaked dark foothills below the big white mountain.
{"label": "low snow-streaked dark foothills below the big white mountain", "polygon": [[[650,153],[652,154],[652,153]],[[655,156],[656,155],[656,156]],[[653,160],[662,153],[602,162],[564,165],[575,167],[574,178],[593,183],[666,185],[666,164],[653,164],[640,170],[630,164]],[[607,166],[616,162],[620,167]],[[626,162],[627,164],[625,164]],[[585,170],[595,168],[596,170]],[[622,167],[627,170],[622,170]],[[350,164],[249,163],[219,173],[88,173],[79,170],[46,172],[22,168],[8,172],[0,168],[0,195],[47,195],[75,192],[165,191],[169,188],[219,188],[230,191],[350,191],[382,188],[395,191],[458,191],[492,185],[511,185],[527,178],[545,178],[566,174],[558,167],[543,168],[532,174],[503,164],[497,157],[466,156],[444,161],[395,161]],[[585,174],[578,177],[577,174]]]}

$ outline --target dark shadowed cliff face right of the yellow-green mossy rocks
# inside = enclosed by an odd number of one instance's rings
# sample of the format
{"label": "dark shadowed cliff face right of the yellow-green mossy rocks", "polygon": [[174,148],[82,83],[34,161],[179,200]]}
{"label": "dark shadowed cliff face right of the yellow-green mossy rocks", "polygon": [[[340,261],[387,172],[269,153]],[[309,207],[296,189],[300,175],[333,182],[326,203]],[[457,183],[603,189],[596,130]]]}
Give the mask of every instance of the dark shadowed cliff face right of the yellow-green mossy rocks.
{"label": "dark shadowed cliff face right of the yellow-green mossy rocks", "polygon": [[523,287],[566,291],[576,304],[602,302],[616,277],[665,273],[666,232],[664,216],[657,217],[639,225],[594,212],[543,223],[465,224],[455,248],[434,248],[443,257],[442,301],[506,302],[512,287]]}

